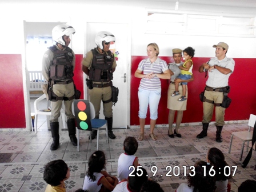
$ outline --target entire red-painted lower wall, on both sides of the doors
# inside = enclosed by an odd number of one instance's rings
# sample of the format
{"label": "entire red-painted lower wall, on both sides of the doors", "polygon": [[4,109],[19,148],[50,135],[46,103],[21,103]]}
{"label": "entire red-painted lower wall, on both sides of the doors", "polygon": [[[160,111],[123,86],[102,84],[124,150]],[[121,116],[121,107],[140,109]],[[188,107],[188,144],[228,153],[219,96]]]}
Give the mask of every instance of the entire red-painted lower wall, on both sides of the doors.
{"label": "entire red-painted lower wall, on both sides of the doors", "polygon": [[[76,66],[74,82],[77,89],[81,91],[83,98],[83,72],[82,54],[75,55]],[[139,62],[146,58],[144,56],[131,57],[131,125],[139,125],[138,118],[138,87],[140,79],[134,77]],[[173,62],[172,57],[160,57],[167,63]],[[205,87],[205,74],[199,73],[198,68],[209,58],[193,58],[193,73],[195,80],[189,83],[189,97],[187,110],[184,112],[182,122],[201,122],[202,103],[199,101],[199,93]],[[230,107],[226,110],[225,120],[249,119],[251,113],[256,114],[256,82],[254,81],[255,58],[235,58],[234,74],[230,76],[229,85],[231,92],[229,97],[232,99]],[[25,103],[23,97],[22,62],[20,54],[0,54],[0,81],[1,81],[1,110],[0,128],[25,128]],[[159,103],[157,124],[167,124],[169,110],[166,107],[168,84],[162,80],[162,97]],[[149,114],[148,114],[149,116]],[[213,118],[214,121],[214,118]],[[146,124],[149,125],[149,117]]]}

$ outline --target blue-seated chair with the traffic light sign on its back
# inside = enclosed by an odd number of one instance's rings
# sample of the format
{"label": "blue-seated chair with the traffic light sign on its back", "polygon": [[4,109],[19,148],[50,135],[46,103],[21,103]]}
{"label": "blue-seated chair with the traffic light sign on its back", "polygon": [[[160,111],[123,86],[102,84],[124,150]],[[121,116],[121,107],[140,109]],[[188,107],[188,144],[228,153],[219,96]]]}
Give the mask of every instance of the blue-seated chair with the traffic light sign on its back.
{"label": "blue-seated chair with the traffic light sign on its back", "polygon": [[[83,101],[82,99],[78,99]],[[99,150],[99,130],[100,129],[105,129],[106,130],[106,136],[107,136],[107,143],[109,143],[109,135],[107,131],[107,120],[106,119],[95,119],[95,109],[93,106],[93,103],[90,103],[90,117],[91,117],[91,129],[92,130],[97,130],[97,150]],[[74,110],[74,102],[72,104],[72,111],[73,115],[78,115],[79,111]],[[106,125],[106,127],[102,127]],[[77,151],[79,151],[79,129],[77,129]],[[91,131],[90,131],[90,140],[91,140]]]}

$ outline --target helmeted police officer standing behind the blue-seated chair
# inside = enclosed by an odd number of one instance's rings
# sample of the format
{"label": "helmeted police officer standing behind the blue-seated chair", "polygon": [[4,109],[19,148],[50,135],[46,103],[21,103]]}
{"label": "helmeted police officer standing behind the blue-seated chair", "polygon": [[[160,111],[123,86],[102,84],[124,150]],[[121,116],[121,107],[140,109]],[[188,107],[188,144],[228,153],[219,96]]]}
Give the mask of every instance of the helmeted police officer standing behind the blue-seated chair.
{"label": "helmeted police officer standing behind the blue-seated chair", "polygon": [[[111,86],[113,73],[117,63],[114,54],[109,50],[110,43],[115,42],[115,36],[109,31],[101,31],[95,37],[97,47],[86,53],[82,61],[82,70],[89,76],[87,86],[89,87],[90,102],[95,108],[95,118],[99,118],[101,101],[103,102],[103,114],[107,120],[109,138],[115,139],[113,128],[113,102],[111,100]],[[94,139],[97,131],[92,131],[91,139]]]}

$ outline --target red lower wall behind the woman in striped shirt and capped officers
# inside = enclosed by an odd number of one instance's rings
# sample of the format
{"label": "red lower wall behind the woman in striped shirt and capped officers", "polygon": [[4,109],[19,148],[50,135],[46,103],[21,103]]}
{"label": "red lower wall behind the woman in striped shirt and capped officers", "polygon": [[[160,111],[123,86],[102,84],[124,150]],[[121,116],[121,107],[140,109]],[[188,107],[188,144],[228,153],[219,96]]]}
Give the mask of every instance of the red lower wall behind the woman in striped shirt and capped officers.
{"label": "red lower wall behind the woman in striped shirt and capped officers", "polygon": [[[141,79],[135,78],[134,73],[138,68],[139,62],[147,58],[145,56],[131,57],[131,125],[139,125],[138,111],[138,87]],[[174,62],[172,57],[159,57],[167,63]],[[209,58],[193,58],[194,81],[188,83],[189,97],[187,99],[187,110],[183,113],[182,123],[201,122],[203,115],[202,102],[199,101],[199,94],[205,87],[205,73],[199,73],[199,66],[203,62],[207,62]],[[225,121],[249,119],[250,114],[256,114],[256,82],[254,81],[255,58],[234,58],[234,73],[229,78],[231,91],[229,97],[232,99],[231,105],[226,109]],[[167,109],[167,89],[166,80],[162,82],[162,97],[158,107],[157,124],[168,123]],[[212,121],[215,121],[213,117]],[[149,111],[147,113],[146,124],[150,124]]]}

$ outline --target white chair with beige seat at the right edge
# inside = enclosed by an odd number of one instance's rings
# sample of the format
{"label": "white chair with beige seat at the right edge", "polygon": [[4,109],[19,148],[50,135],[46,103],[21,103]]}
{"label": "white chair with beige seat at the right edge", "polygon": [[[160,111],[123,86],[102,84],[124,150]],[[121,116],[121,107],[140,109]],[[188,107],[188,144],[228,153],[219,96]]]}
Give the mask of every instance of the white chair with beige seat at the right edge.
{"label": "white chair with beige seat at the right edge", "polygon": [[232,146],[232,141],[233,141],[234,135],[235,135],[235,137],[238,137],[239,139],[241,139],[241,140],[243,141],[241,153],[240,153],[240,156],[239,156],[239,161],[242,160],[242,156],[243,156],[243,147],[245,146],[245,142],[247,142],[246,151],[248,151],[249,141],[251,141],[251,140],[253,139],[253,133],[250,132],[250,129],[251,129],[251,127],[254,127],[255,121],[256,121],[256,115],[251,114],[251,115],[250,115],[249,122],[248,122],[248,125],[249,125],[248,131],[237,131],[237,132],[231,133],[230,146],[229,146],[229,153],[230,153],[230,151],[231,151],[231,146]]}

